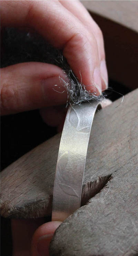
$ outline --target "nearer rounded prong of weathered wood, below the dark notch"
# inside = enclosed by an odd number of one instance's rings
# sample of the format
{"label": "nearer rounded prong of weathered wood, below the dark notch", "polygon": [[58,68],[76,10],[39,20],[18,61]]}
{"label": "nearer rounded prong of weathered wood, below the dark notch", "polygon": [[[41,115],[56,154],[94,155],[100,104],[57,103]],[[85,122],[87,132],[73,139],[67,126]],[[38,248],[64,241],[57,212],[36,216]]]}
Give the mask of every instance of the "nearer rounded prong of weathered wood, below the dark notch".
{"label": "nearer rounded prong of weathered wood, below the dark notch", "polygon": [[125,165],[121,159],[108,187],[63,221],[50,256],[138,255],[138,170],[133,161],[138,164],[135,154]]}

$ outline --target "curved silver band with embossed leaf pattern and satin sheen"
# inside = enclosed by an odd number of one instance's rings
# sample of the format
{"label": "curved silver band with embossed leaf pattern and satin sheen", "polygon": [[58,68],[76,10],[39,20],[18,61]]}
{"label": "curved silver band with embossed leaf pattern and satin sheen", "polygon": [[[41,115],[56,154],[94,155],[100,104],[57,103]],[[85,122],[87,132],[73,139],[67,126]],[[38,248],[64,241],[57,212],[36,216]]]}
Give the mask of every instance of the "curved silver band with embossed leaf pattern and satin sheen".
{"label": "curved silver band with embossed leaf pattern and satin sheen", "polygon": [[100,103],[70,106],[64,123],[53,189],[52,221],[63,221],[80,207],[91,125]]}

